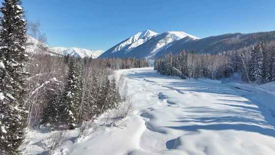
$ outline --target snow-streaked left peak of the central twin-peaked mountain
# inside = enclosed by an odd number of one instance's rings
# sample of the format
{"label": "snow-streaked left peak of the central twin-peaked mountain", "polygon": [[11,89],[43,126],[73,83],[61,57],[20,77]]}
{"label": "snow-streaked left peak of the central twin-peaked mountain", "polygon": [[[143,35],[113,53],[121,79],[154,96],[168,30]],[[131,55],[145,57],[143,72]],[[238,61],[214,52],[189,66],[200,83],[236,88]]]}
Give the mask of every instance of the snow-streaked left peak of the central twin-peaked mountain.
{"label": "snow-streaked left peak of the central twin-peaked mountain", "polygon": [[157,33],[151,31],[151,30],[146,30],[144,32],[139,32],[135,34],[134,36],[128,38],[127,40],[123,41],[120,43],[113,51],[112,53],[116,53],[117,51],[120,51],[124,49],[126,46],[126,51],[130,51],[133,48],[145,43],[147,40],[151,39],[153,36],[158,35]]}

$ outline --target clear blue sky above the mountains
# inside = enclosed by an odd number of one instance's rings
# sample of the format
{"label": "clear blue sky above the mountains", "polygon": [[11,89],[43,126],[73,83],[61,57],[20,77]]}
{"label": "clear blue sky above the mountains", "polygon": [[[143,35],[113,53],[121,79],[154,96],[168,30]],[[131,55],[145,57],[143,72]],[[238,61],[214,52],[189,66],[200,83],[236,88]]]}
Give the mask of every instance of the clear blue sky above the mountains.
{"label": "clear blue sky above the mountains", "polygon": [[22,0],[50,46],[111,48],[147,29],[200,38],[275,30],[273,0]]}

